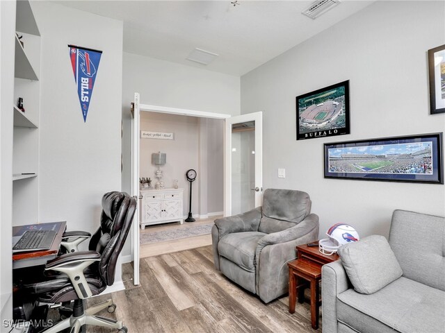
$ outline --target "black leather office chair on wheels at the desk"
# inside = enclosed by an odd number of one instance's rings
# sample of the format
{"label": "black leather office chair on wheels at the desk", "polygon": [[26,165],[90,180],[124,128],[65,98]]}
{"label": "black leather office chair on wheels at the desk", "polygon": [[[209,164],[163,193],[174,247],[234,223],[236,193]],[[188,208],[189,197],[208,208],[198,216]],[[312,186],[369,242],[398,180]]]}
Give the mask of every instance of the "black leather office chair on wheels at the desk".
{"label": "black leather office chair on wheels at the desk", "polygon": [[84,300],[98,295],[114,282],[115,266],[136,211],[136,199],[123,192],[109,192],[102,198],[100,227],[93,234],[88,251],[67,253],[56,257],[45,266],[45,271],[56,271],[56,275],[28,284],[24,288],[33,293],[42,303],[52,304],[74,300],[73,312],[45,333],[56,333],[72,327],[70,333],[81,332],[83,325],[97,325],[126,333],[122,321],[94,316],[102,309],[113,312],[111,299],[94,307],[84,309]]}

